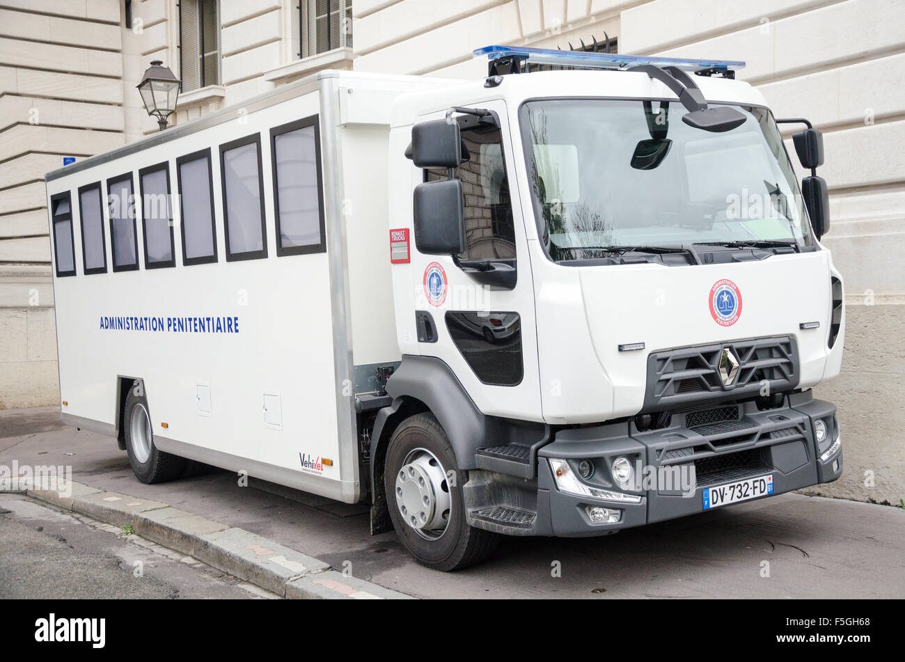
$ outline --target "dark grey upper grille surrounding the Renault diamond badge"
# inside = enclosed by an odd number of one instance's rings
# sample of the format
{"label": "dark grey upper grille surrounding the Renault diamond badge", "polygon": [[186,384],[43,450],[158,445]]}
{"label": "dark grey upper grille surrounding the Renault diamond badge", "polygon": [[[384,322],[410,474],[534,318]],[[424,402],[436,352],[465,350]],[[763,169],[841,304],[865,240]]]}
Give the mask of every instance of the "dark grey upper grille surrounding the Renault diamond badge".
{"label": "dark grey upper grille surrounding the Renault diamond badge", "polygon": [[[738,374],[724,385],[719,357],[729,348],[738,358]],[[702,400],[755,395],[769,383],[772,392],[798,384],[798,352],[793,336],[737,340],[653,352],[648,357],[646,411]]]}

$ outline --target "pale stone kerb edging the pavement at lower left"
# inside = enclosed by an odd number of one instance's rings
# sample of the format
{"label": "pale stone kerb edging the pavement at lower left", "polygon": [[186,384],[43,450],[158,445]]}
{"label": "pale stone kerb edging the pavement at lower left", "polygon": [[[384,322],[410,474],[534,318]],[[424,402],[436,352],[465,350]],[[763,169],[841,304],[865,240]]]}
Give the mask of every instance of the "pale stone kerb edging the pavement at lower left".
{"label": "pale stone kerb edging the pavement at lower left", "polygon": [[305,600],[413,600],[332,570],[313,556],[244,529],[205,519],[159,501],[129,497],[70,481],[62,490],[33,489],[15,483],[0,492],[34,497],[63,510],[119,527],[131,525],[143,538],[192,556],[243,582],[281,598]]}

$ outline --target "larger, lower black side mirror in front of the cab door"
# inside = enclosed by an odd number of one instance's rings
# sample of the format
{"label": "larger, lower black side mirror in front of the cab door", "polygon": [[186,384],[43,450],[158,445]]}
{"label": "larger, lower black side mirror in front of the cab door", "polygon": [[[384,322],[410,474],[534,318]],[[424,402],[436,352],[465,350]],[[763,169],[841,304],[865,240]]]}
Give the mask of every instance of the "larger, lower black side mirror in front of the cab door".
{"label": "larger, lower black side mirror in front of the cab door", "polygon": [[465,208],[458,179],[414,187],[414,245],[426,255],[465,252]]}

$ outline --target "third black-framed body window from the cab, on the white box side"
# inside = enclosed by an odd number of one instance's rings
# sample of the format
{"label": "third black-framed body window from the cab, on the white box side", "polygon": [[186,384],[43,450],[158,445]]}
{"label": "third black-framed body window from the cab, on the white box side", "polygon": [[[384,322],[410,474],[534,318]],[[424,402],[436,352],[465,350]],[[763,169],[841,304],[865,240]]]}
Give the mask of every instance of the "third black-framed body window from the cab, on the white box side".
{"label": "third black-framed body window from the cab, on the white box side", "polygon": [[211,185],[211,150],[176,159],[182,211],[182,263],[217,261],[214,230],[214,190]]}

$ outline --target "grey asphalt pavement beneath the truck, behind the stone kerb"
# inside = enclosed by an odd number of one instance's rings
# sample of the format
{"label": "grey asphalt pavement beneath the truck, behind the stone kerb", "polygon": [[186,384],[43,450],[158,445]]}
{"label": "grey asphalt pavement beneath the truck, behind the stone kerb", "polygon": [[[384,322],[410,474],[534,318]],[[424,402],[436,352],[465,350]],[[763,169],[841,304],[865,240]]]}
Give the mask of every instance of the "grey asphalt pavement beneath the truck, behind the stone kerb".
{"label": "grey asphalt pavement beneath the truck, behind the stone kerb", "polygon": [[[236,476],[220,470],[143,485],[115,440],[64,428],[58,416],[50,408],[27,414],[0,411],[0,464],[9,466],[15,459],[20,464],[71,465],[72,478],[81,483],[242,527],[336,568],[350,563],[354,576],[416,596],[608,600],[905,595],[905,512],[891,506],[779,495],[603,538],[509,538],[487,563],[442,573],[414,563],[395,534],[368,534],[366,506],[276,486],[263,487],[291,498],[239,487]],[[5,541],[0,548],[2,578],[18,555],[15,532],[0,529],[0,539]]]}

